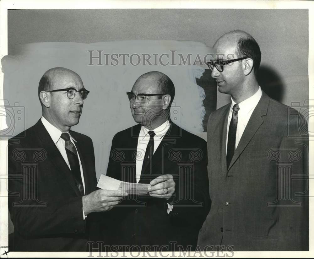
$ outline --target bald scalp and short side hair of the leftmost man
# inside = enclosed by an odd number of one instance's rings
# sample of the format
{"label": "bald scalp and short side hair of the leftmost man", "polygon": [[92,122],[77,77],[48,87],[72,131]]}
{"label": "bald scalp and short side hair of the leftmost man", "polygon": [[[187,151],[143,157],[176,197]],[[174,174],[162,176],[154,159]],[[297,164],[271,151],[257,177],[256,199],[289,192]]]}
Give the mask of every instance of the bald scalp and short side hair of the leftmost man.
{"label": "bald scalp and short side hair of the leftmost man", "polygon": [[41,77],[38,85],[38,96],[41,91],[51,91],[56,88],[58,81],[64,77],[75,77],[82,79],[74,71],[65,67],[54,67],[47,70]]}

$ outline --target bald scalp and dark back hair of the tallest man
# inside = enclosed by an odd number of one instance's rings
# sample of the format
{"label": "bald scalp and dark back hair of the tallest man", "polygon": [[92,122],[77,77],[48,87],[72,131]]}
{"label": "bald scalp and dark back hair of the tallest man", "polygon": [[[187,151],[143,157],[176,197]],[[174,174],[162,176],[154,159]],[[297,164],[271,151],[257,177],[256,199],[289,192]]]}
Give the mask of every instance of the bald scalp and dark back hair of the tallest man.
{"label": "bald scalp and dark back hair of the tallest man", "polygon": [[249,57],[253,60],[254,73],[261,63],[261,51],[252,35],[242,30],[230,31],[222,35],[214,44],[217,52],[235,53],[237,57]]}

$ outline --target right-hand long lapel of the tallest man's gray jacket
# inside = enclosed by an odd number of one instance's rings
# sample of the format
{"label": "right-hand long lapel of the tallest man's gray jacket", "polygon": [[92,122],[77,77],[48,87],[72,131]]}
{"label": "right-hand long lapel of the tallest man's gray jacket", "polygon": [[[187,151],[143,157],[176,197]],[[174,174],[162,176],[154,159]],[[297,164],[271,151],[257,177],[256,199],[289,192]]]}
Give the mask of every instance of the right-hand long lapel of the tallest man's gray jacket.
{"label": "right-hand long lapel of the tallest man's gray jacket", "polygon": [[258,128],[263,124],[263,116],[267,115],[267,109],[269,104],[269,97],[263,92],[261,99],[259,100],[257,106],[255,107],[250,120],[248,121],[240,142],[236,148],[235,154],[231,159],[230,166],[236,162],[243,150],[246,148],[250,140],[253,138],[254,134],[257,132]]}

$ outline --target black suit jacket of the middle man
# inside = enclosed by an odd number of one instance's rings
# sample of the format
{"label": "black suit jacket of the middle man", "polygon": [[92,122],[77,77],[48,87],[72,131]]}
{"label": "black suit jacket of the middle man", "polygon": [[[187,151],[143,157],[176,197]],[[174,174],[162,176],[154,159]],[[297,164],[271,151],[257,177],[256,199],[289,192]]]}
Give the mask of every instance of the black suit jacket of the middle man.
{"label": "black suit jacket of the middle man", "polygon": [[[118,132],[113,140],[107,175],[136,182],[136,150],[141,125]],[[105,213],[105,243],[109,245],[196,246],[198,231],[210,208],[207,178],[206,142],[171,123],[153,155],[147,183],[159,175],[171,174],[176,195],[171,201],[147,195],[131,195],[118,207]],[[147,168],[150,170],[150,168]],[[142,180],[140,181],[140,183]],[[173,211],[167,214],[167,202]],[[176,242],[172,245],[170,242]],[[115,248],[116,249],[116,248]]]}

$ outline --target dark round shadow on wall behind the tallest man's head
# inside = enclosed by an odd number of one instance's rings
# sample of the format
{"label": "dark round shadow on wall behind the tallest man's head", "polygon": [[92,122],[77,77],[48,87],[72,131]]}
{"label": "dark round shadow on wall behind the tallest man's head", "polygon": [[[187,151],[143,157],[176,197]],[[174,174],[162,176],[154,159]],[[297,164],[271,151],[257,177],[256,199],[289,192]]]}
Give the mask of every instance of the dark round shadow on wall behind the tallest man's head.
{"label": "dark round shadow on wall behind the tallest man's head", "polygon": [[257,81],[262,90],[270,98],[282,102],[284,96],[284,83],[276,71],[270,67],[261,66],[258,69]]}

